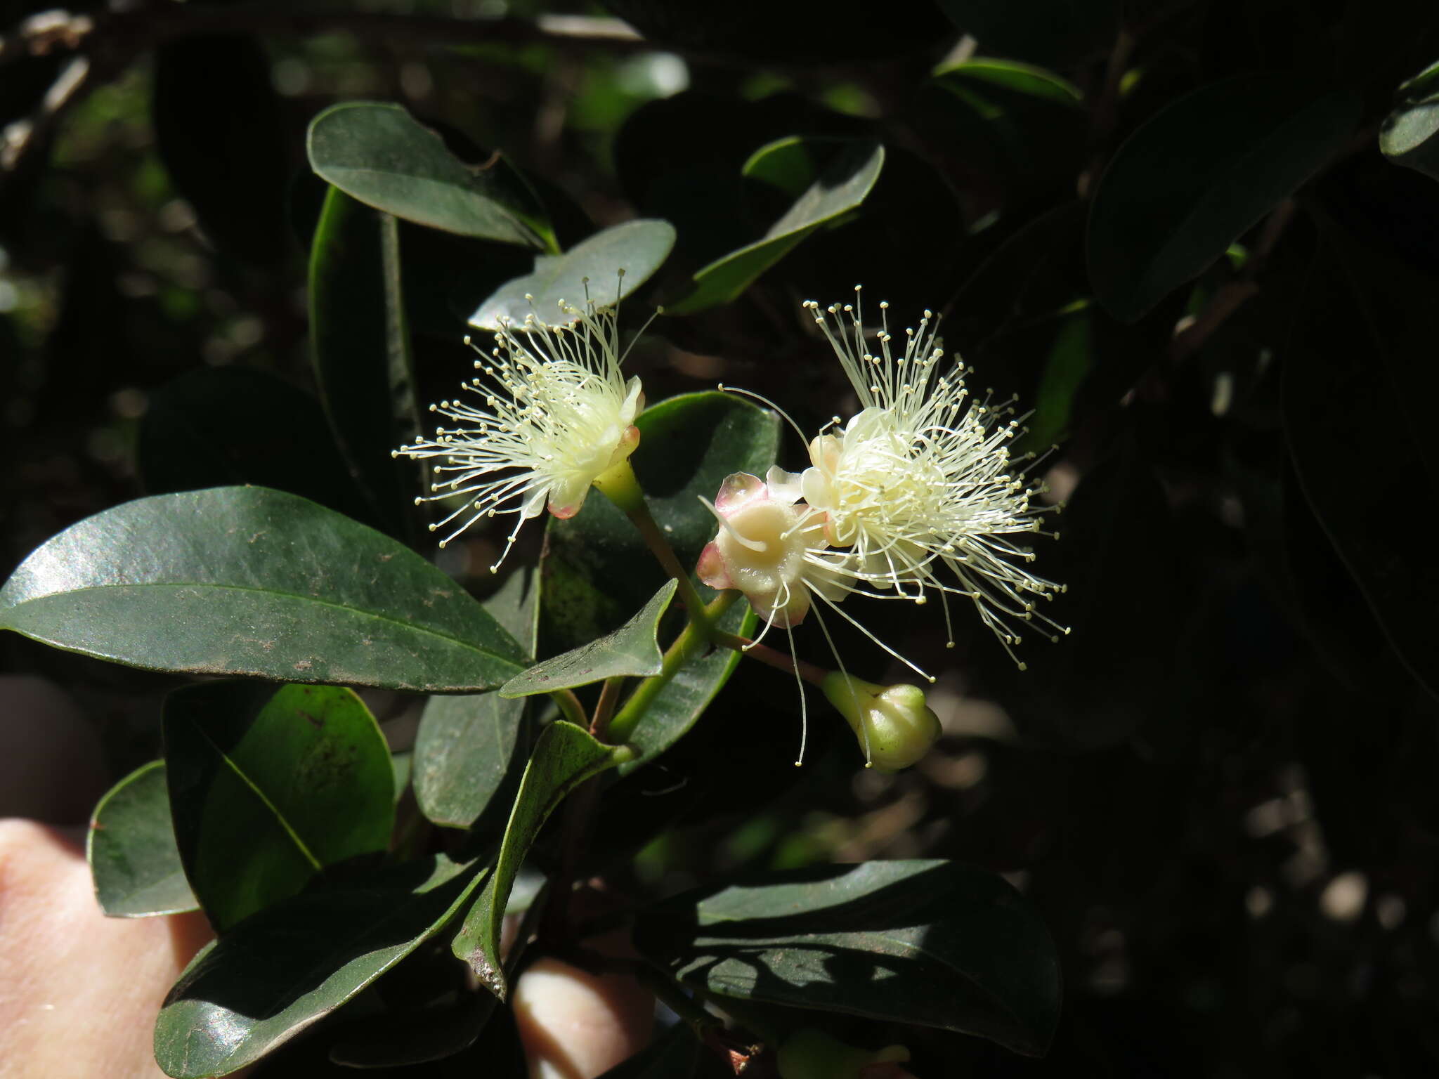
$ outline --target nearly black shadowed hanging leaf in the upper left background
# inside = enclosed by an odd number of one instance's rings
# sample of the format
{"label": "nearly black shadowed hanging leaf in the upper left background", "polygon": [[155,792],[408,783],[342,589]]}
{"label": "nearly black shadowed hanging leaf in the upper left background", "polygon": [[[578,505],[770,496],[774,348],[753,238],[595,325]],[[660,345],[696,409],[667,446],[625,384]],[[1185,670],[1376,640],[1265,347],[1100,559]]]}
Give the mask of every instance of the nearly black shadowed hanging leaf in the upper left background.
{"label": "nearly black shadowed hanging leaf in the upper left background", "polygon": [[275,263],[289,246],[289,154],[265,49],[242,35],[187,35],[154,58],[155,150],[206,236]]}

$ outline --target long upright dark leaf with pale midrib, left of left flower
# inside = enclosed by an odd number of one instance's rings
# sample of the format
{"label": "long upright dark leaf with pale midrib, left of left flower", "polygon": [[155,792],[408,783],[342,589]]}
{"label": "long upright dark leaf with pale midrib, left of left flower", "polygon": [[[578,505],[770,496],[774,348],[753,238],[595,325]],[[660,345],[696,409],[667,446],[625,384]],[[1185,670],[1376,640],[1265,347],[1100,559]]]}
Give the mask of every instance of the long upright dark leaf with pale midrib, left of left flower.
{"label": "long upright dark leaf with pale midrib, left of left flower", "polygon": [[309,249],[315,381],[335,439],[393,535],[413,528],[420,472],[393,450],[420,427],[394,217],[331,188]]}

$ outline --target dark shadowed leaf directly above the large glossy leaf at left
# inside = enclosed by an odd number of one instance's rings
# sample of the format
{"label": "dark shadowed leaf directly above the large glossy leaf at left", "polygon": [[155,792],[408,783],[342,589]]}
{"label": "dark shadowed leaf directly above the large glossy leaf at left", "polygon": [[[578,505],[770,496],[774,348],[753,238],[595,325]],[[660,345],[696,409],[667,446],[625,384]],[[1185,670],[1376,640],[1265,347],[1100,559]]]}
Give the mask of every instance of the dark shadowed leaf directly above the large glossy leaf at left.
{"label": "dark shadowed leaf directly above the large glossy leaf at left", "polygon": [[370,514],[319,403],[266,371],[201,367],[151,393],[135,459],[151,495],[253,483]]}

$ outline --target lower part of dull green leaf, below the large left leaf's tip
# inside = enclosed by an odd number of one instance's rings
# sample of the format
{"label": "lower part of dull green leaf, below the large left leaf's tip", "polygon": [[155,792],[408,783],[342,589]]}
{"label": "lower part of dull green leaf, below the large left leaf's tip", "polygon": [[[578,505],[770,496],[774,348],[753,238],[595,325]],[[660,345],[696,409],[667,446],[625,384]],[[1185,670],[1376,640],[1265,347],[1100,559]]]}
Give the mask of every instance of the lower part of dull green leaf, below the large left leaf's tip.
{"label": "lower part of dull green leaf, below the large left leaf's tip", "polygon": [[517,764],[524,712],[498,693],[430,698],[414,737],[414,798],[429,820],[475,823]]}

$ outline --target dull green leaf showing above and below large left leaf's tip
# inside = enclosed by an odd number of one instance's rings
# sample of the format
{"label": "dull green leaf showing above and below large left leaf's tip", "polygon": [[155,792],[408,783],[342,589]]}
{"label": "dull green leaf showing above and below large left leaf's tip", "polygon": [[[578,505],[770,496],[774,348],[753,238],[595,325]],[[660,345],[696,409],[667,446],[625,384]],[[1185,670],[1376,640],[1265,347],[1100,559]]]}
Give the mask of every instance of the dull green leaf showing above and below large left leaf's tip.
{"label": "dull green leaf showing above and below large left leaf's tip", "polygon": [[[485,600],[495,620],[527,656],[540,624],[540,574],[517,570]],[[436,696],[425,705],[414,737],[414,797],[436,824],[469,827],[494,801],[507,778],[518,778],[528,752],[521,728],[525,702],[498,693]],[[528,741],[534,741],[530,738]]]}

